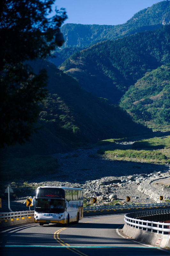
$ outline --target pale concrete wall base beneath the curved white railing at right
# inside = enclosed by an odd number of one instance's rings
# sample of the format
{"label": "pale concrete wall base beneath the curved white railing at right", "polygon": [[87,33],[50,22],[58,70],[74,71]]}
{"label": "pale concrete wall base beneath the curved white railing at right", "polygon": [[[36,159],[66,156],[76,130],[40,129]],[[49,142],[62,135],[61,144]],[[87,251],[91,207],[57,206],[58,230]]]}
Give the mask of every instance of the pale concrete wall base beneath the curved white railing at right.
{"label": "pale concrete wall base beneath the curved white railing at right", "polygon": [[170,235],[162,235],[161,233],[153,233],[150,231],[129,227],[127,224],[124,225],[123,232],[133,239],[141,242],[161,247],[170,247]]}

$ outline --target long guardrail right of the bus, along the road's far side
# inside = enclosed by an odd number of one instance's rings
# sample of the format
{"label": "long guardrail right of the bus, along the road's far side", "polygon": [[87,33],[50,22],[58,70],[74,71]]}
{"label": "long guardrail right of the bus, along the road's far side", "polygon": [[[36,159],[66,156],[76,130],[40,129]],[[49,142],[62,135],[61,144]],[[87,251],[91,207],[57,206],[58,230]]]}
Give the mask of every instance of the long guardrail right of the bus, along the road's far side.
{"label": "long guardrail right of the bus, along the road's far side", "polygon": [[84,212],[88,211],[100,211],[100,210],[115,210],[115,209],[130,209],[130,208],[152,208],[152,207],[165,207],[170,206],[170,203],[160,204],[125,204],[125,205],[103,205],[103,206],[90,206],[83,207]]}

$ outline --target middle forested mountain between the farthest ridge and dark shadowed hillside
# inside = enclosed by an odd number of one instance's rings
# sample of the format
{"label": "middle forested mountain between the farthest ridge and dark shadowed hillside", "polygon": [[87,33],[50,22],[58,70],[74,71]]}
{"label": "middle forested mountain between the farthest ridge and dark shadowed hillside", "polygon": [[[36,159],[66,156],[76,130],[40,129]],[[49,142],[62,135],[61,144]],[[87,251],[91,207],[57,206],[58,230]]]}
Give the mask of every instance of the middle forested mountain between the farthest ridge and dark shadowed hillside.
{"label": "middle forested mountain between the farthest ridge and dark shadowed hillside", "polygon": [[118,103],[130,85],[152,69],[169,63],[170,25],[115,41],[104,41],[76,52],[60,69],[82,88]]}

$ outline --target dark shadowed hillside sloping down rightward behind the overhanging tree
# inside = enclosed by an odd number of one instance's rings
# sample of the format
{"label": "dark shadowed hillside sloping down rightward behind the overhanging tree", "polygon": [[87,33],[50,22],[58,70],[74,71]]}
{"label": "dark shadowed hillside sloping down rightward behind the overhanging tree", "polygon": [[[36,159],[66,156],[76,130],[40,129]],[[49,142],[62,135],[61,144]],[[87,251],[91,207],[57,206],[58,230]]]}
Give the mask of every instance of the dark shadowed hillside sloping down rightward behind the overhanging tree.
{"label": "dark shadowed hillside sloping down rightward behind the overhanging tree", "polygon": [[98,140],[144,134],[150,130],[136,124],[118,105],[109,104],[82,90],[78,82],[46,61],[31,62],[35,73],[46,68],[49,95],[44,100],[40,127],[30,142],[5,149],[3,155],[14,157],[48,155]]}

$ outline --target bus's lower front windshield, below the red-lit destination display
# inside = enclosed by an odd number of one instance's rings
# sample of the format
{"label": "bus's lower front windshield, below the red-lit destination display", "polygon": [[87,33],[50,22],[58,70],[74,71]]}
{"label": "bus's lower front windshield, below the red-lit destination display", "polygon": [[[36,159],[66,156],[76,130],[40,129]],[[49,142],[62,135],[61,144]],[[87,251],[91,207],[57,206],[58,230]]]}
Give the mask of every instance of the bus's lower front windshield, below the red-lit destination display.
{"label": "bus's lower front windshield, below the red-lit destination display", "polygon": [[62,213],[64,212],[64,199],[37,198],[35,212]]}

